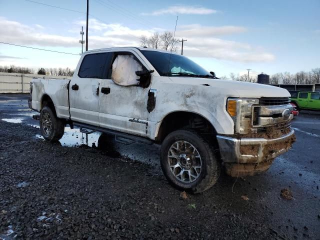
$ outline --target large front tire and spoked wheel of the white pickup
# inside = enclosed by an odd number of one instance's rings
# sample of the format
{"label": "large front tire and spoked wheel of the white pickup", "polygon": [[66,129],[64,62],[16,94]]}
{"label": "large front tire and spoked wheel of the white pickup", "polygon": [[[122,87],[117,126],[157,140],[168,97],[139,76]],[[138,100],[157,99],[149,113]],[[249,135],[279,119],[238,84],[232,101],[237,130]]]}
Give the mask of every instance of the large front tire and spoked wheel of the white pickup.
{"label": "large front tire and spoked wheel of the white pickup", "polygon": [[[185,153],[183,153],[183,147],[180,149],[181,151],[176,151],[175,147],[179,148],[179,145],[183,145],[183,142],[186,142],[184,143],[184,151],[190,152],[190,149],[192,150],[196,148],[196,150],[193,150],[195,153],[187,153],[187,156],[185,156]],[[186,148],[189,150],[186,150]],[[169,133],[164,138],[160,151],[160,164],[163,174],[174,187],[190,193],[200,193],[209,189],[216,183],[220,174],[220,162],[214,154],[213,146],[196,131],[193,131],[192,129],[181,129]],[[181,152],[179,156],[182,156],[182,160],[181,157],[177,157],[177,163],[175,163],[175,156],[177,156],[176,153],[179,152]],[[197,172],[194,172],[194,168],[197,167],[197,171],[199,170],[199,160],[192,160],[196,158],[200,158],[201,162],[201,169],[198,174],[195,174]],[[189,161],[189,163],[187,163],[187,161]],[[183,162],[186,162],[186,164],[183,165]],[[176,166],[177,170],[175,170],[174,166],[172,167],[172,164]],[[195,167],[192,168],[193,165]],[[175,176],[176,174],[181,174],[178,167],[181,168],[181,171],[183,169],[184,172],[182,172],[182,175],[186,176],[183,177],[184,179],[182,176],[178,176],[180,179]],[[190,176],[191,169],[193,172]],[[192,175],[196,176],[196,178]]]}

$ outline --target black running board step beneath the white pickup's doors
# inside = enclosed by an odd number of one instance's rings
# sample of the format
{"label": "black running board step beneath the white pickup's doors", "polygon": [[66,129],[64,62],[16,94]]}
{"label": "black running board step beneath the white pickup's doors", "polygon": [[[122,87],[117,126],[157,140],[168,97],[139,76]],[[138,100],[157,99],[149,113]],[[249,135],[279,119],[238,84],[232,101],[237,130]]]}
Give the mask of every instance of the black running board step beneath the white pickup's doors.
{"label": "black running board step beneath the white pickup's doors", "polygon": [[[123,144],[131,144],[134,142],[139,142],[139,143],[144,143],[144,144],[153,144],[152,140],[149,140],[145,137],[142,136],[135,136],[135,135],[131,135],[128,133],[124,133],[124,132],[119,132],[119,131],[115,131],[115,130],[110,130],[110,129],[106,129],[106,128],[102,128],[99,126],[91,126],[89,124],[85,124],[85,123],[80,123],[80,122],[73,122],[73,125],[80,127],[80,132],[86,133],[86,134],[90,134],[96,131],[102,132],[102,133],[107,133],[110,135],[114,135],[115,136],[115,140],[117,142],[121,142]],[[123,139],[127,139],[129,141],[124,141],[121,140],[119,138],[123,138]]]}

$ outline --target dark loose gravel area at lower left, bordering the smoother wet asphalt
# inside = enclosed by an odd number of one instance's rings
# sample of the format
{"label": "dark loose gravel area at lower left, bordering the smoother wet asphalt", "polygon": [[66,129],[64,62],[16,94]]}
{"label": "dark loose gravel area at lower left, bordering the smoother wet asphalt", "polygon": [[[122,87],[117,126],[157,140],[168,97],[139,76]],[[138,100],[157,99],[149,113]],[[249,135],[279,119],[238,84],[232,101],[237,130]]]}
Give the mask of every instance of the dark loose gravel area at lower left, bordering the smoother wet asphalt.
{"label": "dark loose gravel area at lower left, bordering the smoother wet asphalt", "polygon": [[[18,130],[17,130],[18,129]],[[12,134],[14,132],[14,134]],[[0,120],[3,239],[266,239],[277,233],[227,207],[180,192],[152,166],[35,139]],[[249,204],[244,202],[244,204]],[[12,234],[5,236],[12,232]]]}

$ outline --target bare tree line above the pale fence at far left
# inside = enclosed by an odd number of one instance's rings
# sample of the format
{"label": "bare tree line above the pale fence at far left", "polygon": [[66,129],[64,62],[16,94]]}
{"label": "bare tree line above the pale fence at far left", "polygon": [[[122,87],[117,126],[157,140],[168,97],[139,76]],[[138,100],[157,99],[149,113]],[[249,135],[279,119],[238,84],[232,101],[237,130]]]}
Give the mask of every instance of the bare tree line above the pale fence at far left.
{"label": "bare tree line above the pale fence at far left", "polygon": [[10,72],[10,73],[31,73],[31,74],[48,74],[48,75],[53,75],[53,76],[72,76],[74,70],[71,70],[70,68],[28,68],[28,67],[21,67],[21,66],[15,66],[15,65],[10,65],[8,66],[0,66],[0,72]]}

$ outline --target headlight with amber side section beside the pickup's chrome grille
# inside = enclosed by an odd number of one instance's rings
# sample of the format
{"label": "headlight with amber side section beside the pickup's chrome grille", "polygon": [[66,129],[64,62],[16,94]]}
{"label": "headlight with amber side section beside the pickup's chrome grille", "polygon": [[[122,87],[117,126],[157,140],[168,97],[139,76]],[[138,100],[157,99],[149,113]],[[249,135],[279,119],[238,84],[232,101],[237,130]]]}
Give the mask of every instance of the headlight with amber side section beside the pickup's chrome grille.
{"label": "headlight with amber side section beside the pickup's chrome grille", "polygon": [[226,111],[234,122],[234,132],[249,133],[251,128],[252,105],[258,104],[259,99],[228,98]]}

